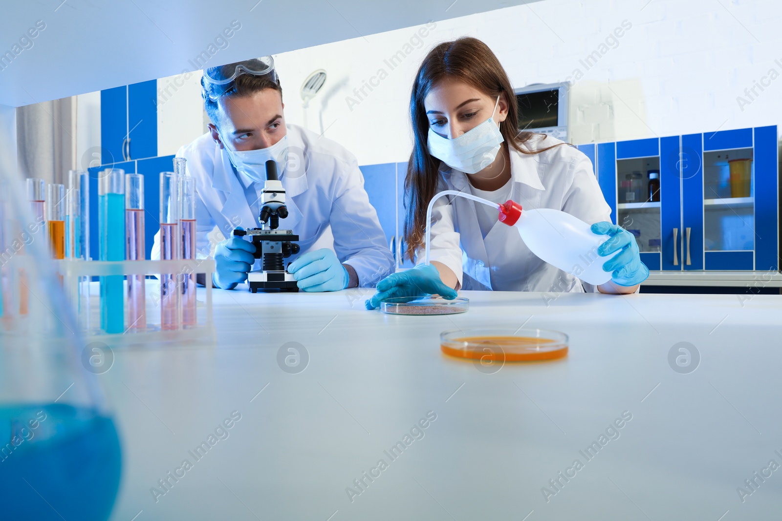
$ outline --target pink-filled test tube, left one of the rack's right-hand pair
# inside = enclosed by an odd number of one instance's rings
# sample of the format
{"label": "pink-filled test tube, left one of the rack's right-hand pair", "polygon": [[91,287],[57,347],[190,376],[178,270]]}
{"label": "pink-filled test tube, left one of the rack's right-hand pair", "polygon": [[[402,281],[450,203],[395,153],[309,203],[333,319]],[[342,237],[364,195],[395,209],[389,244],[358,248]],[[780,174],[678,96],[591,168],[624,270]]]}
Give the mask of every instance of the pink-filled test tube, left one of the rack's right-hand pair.
{"label": "pink-filled test tube, left one of the rack's right-hand pair", "polygon": [[[174,172],[160,173],[160,260],[179,258],[179,184]],[[179,328],[179,293],[175,273],[160,273],[160,329]]]}

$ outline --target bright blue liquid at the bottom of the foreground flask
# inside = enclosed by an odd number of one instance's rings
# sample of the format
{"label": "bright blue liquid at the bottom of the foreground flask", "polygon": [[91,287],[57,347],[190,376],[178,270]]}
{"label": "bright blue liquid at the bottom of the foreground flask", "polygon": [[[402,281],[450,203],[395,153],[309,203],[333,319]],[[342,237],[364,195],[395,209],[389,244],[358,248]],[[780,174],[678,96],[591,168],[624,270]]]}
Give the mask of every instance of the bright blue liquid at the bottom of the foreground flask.
{"label": "bright blue liquid at the bottom of the foreground flask", "polygon": [[0,405],[2,519],[109,519],[120,485],[113,420],[71,405]]}

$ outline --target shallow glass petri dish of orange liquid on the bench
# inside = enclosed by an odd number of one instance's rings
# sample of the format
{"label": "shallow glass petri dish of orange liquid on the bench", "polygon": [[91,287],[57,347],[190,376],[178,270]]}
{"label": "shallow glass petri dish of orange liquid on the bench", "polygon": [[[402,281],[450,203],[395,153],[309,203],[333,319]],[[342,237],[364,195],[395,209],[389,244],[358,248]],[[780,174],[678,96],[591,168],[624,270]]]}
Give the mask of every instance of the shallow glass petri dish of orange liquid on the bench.
{"label": "shallow glass petri dish of orange liquid on the bench", "polygon": [[440,350],[462,359],[537,362],[568,354],[568,335],[536,328],[453,330],[440,334]]}

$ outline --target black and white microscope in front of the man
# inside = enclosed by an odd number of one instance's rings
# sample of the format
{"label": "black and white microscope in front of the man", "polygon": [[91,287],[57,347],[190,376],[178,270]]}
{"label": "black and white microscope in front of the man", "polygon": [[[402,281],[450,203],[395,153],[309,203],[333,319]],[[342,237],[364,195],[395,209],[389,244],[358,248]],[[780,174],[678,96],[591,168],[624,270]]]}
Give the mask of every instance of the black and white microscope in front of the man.
{"label": "black and white microscope in front of the man", "polygon": [[249,291],[299,291],[296,279],[288,273],[282,259],[287,259],[299,253],[298,235],[293,230],[278,230],[280,218],[288,216],[285,207],[285,188],[277,176],[277,163],[274,160],[266,162],[266,182],[261,193],[261,209],[258,220],[260,228],[249,230],[234,230],[234,237],[253,237],[256,259],[263,259],[262,269],[256,269],[247,274]]}

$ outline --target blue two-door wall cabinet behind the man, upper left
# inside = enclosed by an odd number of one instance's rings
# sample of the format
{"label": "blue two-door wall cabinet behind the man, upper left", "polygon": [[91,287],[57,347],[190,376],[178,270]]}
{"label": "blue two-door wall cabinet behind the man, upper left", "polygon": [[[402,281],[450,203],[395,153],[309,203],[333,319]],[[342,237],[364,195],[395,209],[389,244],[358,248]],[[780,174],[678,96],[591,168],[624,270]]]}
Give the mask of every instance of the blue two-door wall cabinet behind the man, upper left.
{"label": "blue two-door wall cabinet behind the man, upper left", "polygon": [[157,81],[101,91],[102,163],[157,155]]}

